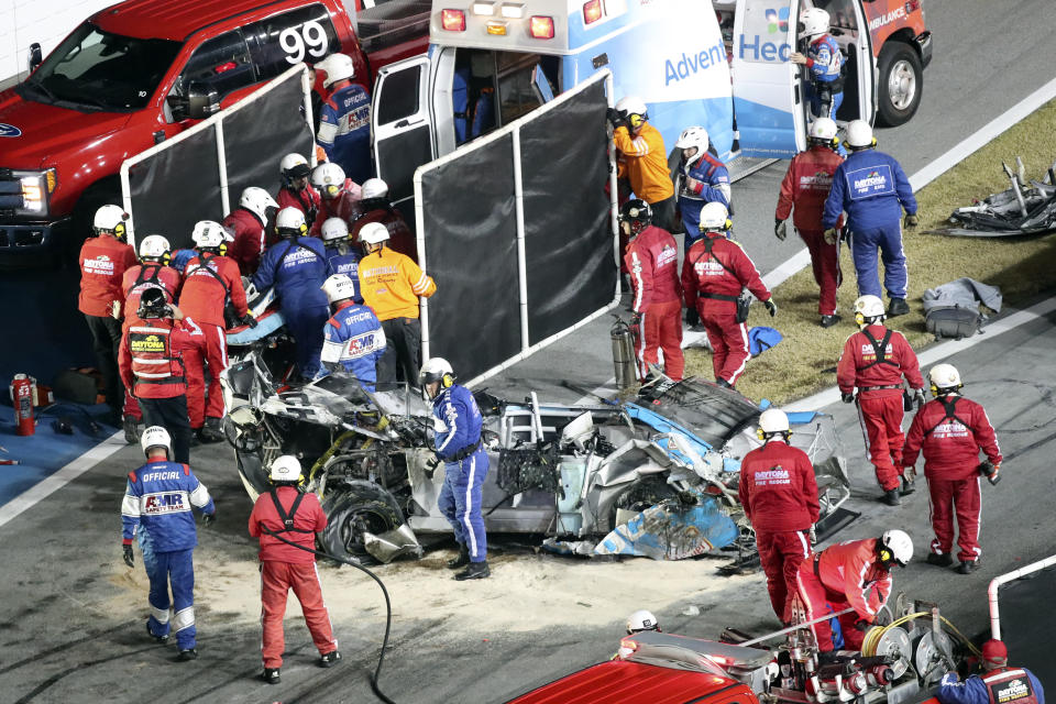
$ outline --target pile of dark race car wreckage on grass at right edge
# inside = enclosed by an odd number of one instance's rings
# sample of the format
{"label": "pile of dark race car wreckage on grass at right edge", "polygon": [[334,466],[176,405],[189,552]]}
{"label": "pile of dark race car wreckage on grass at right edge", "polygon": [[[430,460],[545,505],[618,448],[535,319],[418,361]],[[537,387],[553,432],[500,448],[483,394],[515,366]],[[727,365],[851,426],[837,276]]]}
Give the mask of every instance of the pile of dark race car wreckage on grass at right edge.
{"label": "pile of dark race car wreckage on grass at right edge", "polygon": [[1015,163],[1015,172],[1008,164],[1001,164],[1010,182],[1008,190],[955,210],[949,221],[961,227],[927,232],[986,238],[1056,230],[1056,162],[1048,167],[1043,182],[1031,179],[1028,185],[1023,161],[1016,157]]}

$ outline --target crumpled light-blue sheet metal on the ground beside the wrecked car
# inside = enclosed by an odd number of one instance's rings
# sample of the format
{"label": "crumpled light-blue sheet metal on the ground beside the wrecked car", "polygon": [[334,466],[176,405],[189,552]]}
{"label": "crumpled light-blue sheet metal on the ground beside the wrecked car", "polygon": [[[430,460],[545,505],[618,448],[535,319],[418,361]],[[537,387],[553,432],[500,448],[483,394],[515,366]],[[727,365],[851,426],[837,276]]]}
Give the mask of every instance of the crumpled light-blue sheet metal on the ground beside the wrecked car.
{"label": "crumpled light-blue sheet metal on the ground beside the wrecked car", "polygon": [[682,560],[732,544],[738,530],[718,499],[701,496],[695,506],[667,501],[650,506],[605,536],[595,554],[632,554]]}

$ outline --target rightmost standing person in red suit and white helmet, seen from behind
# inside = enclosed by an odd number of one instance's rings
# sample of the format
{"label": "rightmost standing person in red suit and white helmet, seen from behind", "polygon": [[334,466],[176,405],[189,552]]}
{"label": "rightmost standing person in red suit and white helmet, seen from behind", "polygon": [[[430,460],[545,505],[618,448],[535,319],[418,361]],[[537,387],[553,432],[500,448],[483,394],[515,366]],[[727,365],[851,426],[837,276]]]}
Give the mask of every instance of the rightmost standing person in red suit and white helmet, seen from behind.
{"label": "rightmost standing person in red suit and white helmet, seen from behind", "polygon": [[1001,449],[982,406],[960,395],[960,373],[952,364],[936,364],[928,373],[933,400],[924,404],[910,425],[902,449],[903,472],[913,473],[919,454],[924,454],[924,476],[932,498],[932,550],[927,563],[949,566],[954,563],[954,510],[957,512],[957,571],[969,574],[979,565],[979,518],[982,496],[979,491],[979,451],[987,453],[988,475],[997,483],[1001,471]]}

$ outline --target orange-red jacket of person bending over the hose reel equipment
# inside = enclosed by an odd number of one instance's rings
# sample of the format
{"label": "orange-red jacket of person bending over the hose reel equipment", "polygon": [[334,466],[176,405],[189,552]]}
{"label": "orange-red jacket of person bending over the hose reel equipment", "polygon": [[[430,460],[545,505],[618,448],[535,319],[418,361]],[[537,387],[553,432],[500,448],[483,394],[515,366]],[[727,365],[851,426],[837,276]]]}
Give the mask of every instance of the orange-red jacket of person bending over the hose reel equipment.
{"label": "orange-red jacket of person bending over the hose reel equipment", "polygon": [[845,595],[858,618],[870,624],[891,594],[891,572],[877,559],[876,538],[826,548],[817,558],[817,571],[825,588]]}

